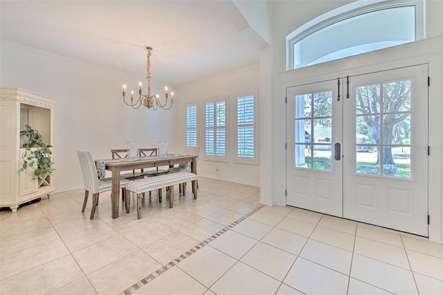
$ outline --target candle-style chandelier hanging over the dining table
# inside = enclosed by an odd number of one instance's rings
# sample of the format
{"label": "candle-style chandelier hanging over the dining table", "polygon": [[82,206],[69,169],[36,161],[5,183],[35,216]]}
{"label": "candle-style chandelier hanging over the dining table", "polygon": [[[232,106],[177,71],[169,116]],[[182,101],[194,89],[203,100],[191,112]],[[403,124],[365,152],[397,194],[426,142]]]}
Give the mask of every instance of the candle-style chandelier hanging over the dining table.
{"label": "candle-style chandelier hanging over the dining table", "polygon": [[[151,95],[151,59],[150,59],[150,57],[151,57],[152,47],[147,46],[146,49],[147,49],[147,55],[146,55],[147,94],[142,94],[141,87],[143,86],[143,84],[140,82],[140,83],[138,83],[139,97],[136,100],[134,100],[134,90],[132,90],[131,91],[131,100],[129,102],[125,98],[126,84],[124,84],[123,85],[123,101],[125,102],[125,104],[133,107],[134,109],[138,109],[139,107],[141,107],[141,105],[144,105],[148,109],[150,109],[152,107],[152,108],[154,108],[154,111],[156,111],[159,107],[161,107],[162,109],[170,109],[172,107],[172,102],[174,100],[174,92],[173,91],[171,92],[171,98],[170,98],[170,100],[168,100],[168,87],[165,87],[164,102],[160,101],[159,94],[157,94],[156,96]],[[155,105],[154,105],[154,100],[155,100]],[[170,104],[168,104],[168,102],[170,102]],[[168,107],[168,105],[169,105],[169,107]]]}

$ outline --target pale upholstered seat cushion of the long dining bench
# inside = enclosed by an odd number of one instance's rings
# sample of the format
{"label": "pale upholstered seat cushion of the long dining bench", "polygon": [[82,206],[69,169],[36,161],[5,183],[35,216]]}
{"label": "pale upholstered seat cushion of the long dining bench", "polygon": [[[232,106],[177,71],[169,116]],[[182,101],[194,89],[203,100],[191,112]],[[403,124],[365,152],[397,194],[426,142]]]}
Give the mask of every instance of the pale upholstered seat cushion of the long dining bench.
{"label": "pale upholstered seat cushion of the long dining bench", "polygon": [[149,192],[150,190],[157,190],[159,188],[166,188],[174,186],[175,184],[182,184],[183,182],[197,180],[197,175],[192,172],[170,173],[166,175],[159,175],[156,177],[149,177],[145,179],[136,179],[130,181],[126,185],[126,190],[141,194]]}

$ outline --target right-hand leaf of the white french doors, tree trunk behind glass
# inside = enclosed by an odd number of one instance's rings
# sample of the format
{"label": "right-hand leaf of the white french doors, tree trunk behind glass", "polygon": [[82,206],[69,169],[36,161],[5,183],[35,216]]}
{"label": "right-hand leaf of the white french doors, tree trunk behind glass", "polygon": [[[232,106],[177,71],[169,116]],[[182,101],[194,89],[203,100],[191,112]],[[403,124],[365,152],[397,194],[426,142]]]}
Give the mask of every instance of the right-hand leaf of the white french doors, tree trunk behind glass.
{"label": "right-hand leaf of the white french doors, tree trunk behind glass", "polygon": [[350,81],[343,217],[428,236],[427,65]]}

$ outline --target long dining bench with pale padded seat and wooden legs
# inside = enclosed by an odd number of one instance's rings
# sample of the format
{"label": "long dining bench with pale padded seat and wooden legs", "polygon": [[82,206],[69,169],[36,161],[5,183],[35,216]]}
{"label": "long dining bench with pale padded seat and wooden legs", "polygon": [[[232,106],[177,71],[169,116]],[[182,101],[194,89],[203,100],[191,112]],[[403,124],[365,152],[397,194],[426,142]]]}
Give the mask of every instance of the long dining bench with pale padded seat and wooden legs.
{"label": "long dining bench with pale padded seat and wooden legs", "polygon": [[[151,190],[158,190],[161,188],[169,188],[169,208],[172,208],[174,202],[174,185],[183,184],[183,182],[192,181],[192,191],[194,192],[194,199],[197,199],[197,175],[192,172],[179,172],[159,175],[156,177],[149,177],[144,179],[136,179],[130,181],[126,185],[126,191],[137,194],[137,217],[141,219],[141,197],[143,193]],[[185,195],[185,192],[183,192]],[[129,198],[127,197],[127,212],[129,213]],[[159,202],[161,197],[159,196]]]}

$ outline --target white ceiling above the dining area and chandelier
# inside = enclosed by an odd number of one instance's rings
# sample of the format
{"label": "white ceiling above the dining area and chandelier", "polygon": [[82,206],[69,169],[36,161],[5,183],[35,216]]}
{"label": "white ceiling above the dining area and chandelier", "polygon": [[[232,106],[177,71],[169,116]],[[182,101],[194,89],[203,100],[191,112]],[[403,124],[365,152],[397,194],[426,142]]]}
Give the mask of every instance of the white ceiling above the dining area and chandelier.
{"label": "white ceiling above the dining area and chandelier", "polygon": [[0,12],[2,40],[134,78],[145,77],[152,46],[152,80],[172,85],[256,64],[266,46],[244,34],[251,28],[231,0],[1,0]]}

